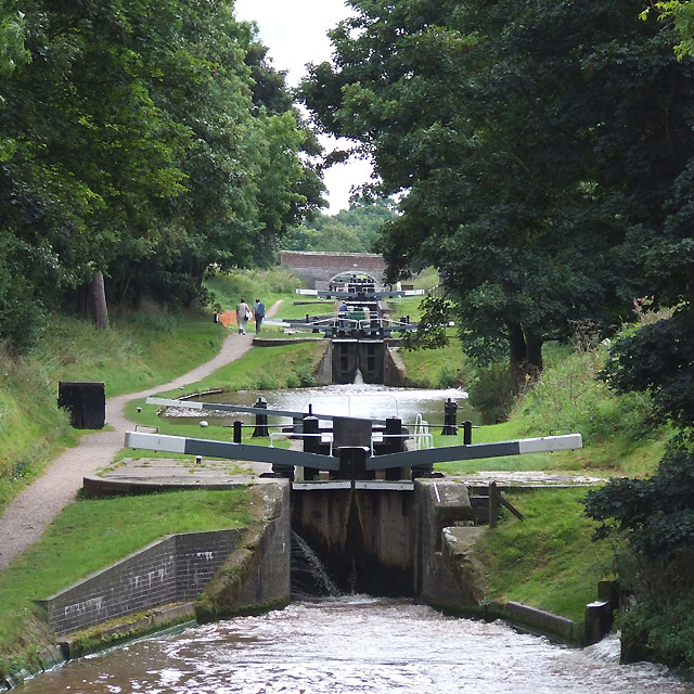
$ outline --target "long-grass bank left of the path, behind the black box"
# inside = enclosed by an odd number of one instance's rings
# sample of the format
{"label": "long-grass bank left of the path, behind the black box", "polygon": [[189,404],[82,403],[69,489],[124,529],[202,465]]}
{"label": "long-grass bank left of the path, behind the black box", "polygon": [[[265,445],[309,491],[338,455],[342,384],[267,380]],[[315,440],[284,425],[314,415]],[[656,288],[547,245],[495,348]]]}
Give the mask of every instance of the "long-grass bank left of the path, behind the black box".
{"label": "long-grass bank left of the path, behind the black box", "polygon": [[112,316],[106,331],[54,314],[29,356],[0,349],[0,512],[80,436],[57,408],[61,381],[104,382],[106,397],[144,389],[209,360],[224,334],[206,311],[152,307]]}

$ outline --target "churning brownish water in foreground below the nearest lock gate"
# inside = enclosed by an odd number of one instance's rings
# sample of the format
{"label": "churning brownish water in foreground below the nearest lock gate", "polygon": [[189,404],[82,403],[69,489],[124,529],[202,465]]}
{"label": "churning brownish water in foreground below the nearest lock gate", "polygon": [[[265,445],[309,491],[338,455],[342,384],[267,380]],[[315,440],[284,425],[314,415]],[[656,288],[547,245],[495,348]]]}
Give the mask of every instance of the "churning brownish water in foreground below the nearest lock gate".
{"label": "churning brownish water in foreground below the nearest lock gate", "polygon": [[618,643],[552,645],[507,626],[408,601],[296,602],[69,663],[22,694],[693,694],[652,665],[620,666]]}

